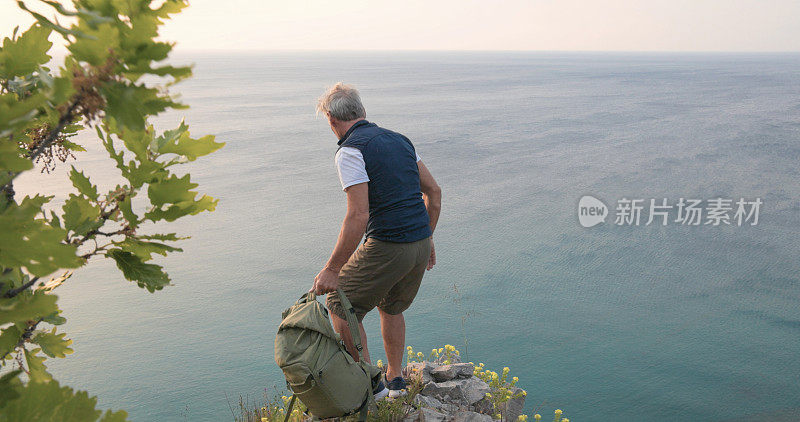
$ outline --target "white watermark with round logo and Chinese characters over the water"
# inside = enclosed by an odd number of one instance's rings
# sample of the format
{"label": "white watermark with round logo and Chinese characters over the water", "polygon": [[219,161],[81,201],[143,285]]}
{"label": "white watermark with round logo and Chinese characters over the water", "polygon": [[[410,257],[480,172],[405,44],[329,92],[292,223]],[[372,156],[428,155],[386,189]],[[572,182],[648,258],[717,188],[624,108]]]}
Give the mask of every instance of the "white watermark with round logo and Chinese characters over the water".
{"label": "white watermark with round logo and Chinese characters over the water", "polygon": [[[614,208],[614,225],[755,226],[763,204],[761,198],[736,201],[728,198],[679,198],[677,201],[622,198]],[[605,222],[608,214],[606,205],[593,196],[583,196],[578,202],[578,221],[583,227]]]}

